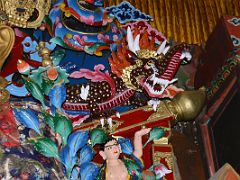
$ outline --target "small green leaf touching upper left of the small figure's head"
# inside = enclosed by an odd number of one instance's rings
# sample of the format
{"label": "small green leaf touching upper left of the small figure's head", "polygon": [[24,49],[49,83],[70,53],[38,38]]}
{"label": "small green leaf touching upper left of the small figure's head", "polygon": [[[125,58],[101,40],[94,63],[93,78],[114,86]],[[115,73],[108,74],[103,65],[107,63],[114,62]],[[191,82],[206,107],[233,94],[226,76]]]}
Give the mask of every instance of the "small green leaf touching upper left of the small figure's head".
{"label": "small green leaf touching upper left of the small figure's head", "polygon": [[90,139],[92,146],[95,146],[96,144],[102,144],[106,142],[108,137],[102,129],[95,128],[90,133]]}

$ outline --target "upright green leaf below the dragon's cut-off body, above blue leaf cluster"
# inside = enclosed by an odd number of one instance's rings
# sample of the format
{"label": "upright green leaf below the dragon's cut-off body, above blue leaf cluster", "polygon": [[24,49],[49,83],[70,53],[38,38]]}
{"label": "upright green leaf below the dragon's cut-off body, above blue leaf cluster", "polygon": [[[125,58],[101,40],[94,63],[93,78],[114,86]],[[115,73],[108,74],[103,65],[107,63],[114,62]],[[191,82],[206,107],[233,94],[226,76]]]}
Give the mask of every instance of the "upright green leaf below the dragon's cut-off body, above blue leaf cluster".
{"label": "upright green leaf below the dragon's cut-off body, above blue leaf cluster", "polygon": [[56,113],[54,117],[54,128],[55,132],[60,134],[62,137],[62,145],[67,144],[68,135],[72,132],[72,122],[66,117]]}

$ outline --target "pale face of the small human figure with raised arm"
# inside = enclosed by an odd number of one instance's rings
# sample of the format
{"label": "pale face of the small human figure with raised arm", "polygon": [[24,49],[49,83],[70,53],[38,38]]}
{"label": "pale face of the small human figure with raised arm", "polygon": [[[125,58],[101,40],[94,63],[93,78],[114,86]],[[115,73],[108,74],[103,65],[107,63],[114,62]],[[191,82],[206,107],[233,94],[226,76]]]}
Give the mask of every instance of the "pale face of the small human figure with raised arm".
{"label": "pale face of the small human figure with raised arm", "polygon": [[116,140],[109,141],[104,146],[104,153],[106,156],[106,160],[109,159],[118,159],[120,155],[120,145]]}

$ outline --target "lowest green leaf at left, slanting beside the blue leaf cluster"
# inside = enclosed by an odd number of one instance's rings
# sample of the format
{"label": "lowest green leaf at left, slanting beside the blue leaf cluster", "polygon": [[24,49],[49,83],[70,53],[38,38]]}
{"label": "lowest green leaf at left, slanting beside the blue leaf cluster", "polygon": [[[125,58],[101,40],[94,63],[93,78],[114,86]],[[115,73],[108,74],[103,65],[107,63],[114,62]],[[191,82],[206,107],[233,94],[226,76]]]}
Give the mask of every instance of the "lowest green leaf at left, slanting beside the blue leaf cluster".
{"label": "lowest green leaf at left, slanting beside the blue leaf cluster", "polygon": [[30,139],[29,142],[44,156],[59,159],[58,148],[51,139],[40,137],[36,139]]}

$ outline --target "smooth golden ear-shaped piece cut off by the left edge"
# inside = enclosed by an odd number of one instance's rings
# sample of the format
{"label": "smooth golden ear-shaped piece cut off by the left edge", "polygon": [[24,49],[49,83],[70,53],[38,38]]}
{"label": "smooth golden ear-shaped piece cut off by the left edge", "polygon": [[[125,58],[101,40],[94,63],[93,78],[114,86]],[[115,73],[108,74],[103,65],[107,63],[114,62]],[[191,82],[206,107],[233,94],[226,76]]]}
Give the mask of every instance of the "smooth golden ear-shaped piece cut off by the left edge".
{"label": "smooth golden ear-shaped piece cut off by the left edge", "polygon": [[15,42],[13,29],[6,25],[0,25],[0,70],[10,54]]}

